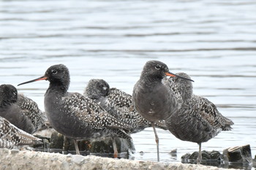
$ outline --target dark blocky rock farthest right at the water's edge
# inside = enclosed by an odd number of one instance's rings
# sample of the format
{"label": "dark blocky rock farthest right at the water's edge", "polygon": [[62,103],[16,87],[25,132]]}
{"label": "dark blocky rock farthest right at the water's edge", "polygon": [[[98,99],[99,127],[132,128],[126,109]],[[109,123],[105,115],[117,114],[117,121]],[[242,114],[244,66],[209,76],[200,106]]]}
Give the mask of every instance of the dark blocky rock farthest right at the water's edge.
{"label": "dark blocky rock farthest right at the water's edge", "polygon": [[252,163],[252,153],[249,144],[229,147],[223,150],[224,161],[230,163]]}

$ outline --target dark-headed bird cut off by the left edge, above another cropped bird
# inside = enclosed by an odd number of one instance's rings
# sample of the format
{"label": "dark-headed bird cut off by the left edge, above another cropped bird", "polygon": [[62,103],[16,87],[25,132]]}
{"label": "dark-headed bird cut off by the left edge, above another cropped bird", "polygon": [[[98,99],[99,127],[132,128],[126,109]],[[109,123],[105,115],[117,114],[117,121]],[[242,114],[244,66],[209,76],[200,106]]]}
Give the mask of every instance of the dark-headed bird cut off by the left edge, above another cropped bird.
{"label": "dark-headed bird cut off by the left edge, above another cropped bird", "polygon": [[0,85],[0,116],[29,134],[45,127],[47,120],[37,103],[19,94],[13,85]]}

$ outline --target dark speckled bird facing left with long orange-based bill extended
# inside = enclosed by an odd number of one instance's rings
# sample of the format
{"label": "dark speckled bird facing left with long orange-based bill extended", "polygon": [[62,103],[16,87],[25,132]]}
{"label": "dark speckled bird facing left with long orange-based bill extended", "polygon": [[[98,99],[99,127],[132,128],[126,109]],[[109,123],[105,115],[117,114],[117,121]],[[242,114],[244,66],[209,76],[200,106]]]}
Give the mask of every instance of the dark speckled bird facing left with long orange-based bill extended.
{"label": "dark speckled bird facing left with long orange-based bill extended", "polygon": [[[63,64],[53,65],[45,75],[35,80],[48,80],[45,93],[45,112],[50,125],[60,134],[74,139],[75,150],[80,154],[77,140],[111,136],[130,139],[129,125],[108,114],[95,101],[80,93],[69,93],[69,69]],[[113,140],[113,146],[115,140]],[[117,150],[114,152],[116,154]]]}

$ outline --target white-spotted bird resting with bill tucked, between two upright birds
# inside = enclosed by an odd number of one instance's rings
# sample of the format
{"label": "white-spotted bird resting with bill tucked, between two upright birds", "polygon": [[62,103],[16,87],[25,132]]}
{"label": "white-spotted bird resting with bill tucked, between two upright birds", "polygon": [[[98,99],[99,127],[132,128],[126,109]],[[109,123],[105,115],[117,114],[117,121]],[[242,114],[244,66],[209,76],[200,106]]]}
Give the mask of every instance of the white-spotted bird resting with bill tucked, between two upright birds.
{"label": "white-spotted bird resting with bill tucked, between two upright birds", "polygon": [[[151,123],[136,112],[132,104],[132,96],[117,88],[110,88],[105,80],[89,80],[83,95],[96,101],[118,120],[127,123],[131,127],[129,131],[131,134],[151,127]],[[164,122],[157,122],[156,126],[167,129]]]}

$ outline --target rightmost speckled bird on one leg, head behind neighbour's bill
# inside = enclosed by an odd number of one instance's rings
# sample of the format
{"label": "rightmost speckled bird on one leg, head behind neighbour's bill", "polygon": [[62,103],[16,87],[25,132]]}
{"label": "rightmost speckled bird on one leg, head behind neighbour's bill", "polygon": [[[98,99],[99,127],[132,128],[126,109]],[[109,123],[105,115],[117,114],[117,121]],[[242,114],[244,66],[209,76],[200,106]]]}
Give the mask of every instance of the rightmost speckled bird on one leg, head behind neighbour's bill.
{"label": "rightmost speckled bird on one leg, head behind neighbour's bill", "polygon": [[[178,76],[190,79],[188,74]],[[196,142],[199,145],[197,163],[202,160],[201,143],[207,142],[221,131],[230,131],[232,120],[221,115],[207,98],[193,94],[192,82],[170,77],[170,87],[182,99],[181,108],[165,120],[168,130],[178,139]]]}

